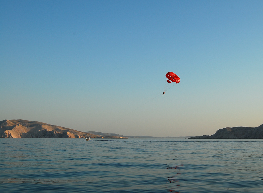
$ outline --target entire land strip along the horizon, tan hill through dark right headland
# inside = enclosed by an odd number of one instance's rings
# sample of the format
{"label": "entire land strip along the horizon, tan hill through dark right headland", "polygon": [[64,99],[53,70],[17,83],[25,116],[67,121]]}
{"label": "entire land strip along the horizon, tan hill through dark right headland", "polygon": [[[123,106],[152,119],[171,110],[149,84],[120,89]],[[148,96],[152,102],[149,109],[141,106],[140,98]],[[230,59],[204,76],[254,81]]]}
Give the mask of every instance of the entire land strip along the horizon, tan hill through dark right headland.
{"label": "entire land strip along the horizon, tan hill through dark right headland", "polygon": [[226,127],[214,135],[195,137],[123,136],[116,133],[77,131],[38,121],[22,119],[0,121],[1,138],[188,138],[188,139],[263,139],[263,124],[258,127]]}

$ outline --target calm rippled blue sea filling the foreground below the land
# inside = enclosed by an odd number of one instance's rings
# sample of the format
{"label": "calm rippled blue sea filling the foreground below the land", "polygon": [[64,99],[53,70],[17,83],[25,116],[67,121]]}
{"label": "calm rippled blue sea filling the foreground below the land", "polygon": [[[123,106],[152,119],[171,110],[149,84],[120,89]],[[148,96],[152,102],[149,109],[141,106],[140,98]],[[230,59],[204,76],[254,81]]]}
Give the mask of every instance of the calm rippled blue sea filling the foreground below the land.
{"label": "calm rippled blue sea filling the foreground below the land", "polygon": [[262,192],[263,140],[0,138],[1,192]]}

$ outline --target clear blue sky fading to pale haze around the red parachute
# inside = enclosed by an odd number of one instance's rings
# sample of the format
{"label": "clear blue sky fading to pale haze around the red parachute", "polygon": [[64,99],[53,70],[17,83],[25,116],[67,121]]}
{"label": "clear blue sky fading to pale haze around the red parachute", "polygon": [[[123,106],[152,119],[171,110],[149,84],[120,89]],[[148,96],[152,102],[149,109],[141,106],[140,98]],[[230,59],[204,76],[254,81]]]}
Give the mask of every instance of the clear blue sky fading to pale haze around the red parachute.
{"label": "clear blue sky fading to pale haze around the red parachute", "polygon": [[[0,10],[1,120],[134,136],[263,123],[261,0],[3,0]],[[170,71],[181,81],[163,96]]]}

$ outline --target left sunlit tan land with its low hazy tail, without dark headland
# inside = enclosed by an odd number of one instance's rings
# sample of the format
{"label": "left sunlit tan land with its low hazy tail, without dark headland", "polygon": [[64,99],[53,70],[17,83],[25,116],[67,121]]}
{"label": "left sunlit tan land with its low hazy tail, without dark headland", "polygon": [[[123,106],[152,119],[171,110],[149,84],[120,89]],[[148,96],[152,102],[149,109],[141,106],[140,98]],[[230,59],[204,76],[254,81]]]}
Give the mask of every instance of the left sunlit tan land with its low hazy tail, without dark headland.
{"label": "left sunlit tan land with its low hazy tail, without dark headland", "polygon": [[77,131],[70,128],[50,125],[38,121],[22,119],[0,121],[0,138],[188,138],[188,137],[152,137],[123,136],[116,133],[96,131]]}

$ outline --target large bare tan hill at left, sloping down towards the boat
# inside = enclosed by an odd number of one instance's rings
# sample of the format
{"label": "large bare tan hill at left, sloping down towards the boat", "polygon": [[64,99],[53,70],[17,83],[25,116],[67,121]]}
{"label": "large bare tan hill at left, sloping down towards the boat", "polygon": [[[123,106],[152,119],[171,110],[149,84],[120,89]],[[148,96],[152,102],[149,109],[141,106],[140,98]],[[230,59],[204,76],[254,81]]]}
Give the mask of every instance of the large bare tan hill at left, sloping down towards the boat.
{"label": "large bare tan hill at left, sloping down towards the boat", "polygon": [[37,121],[3,120],[0,121],[0,137],[8,138],[85,138],[95,137],[65,127],[50,125]]}

